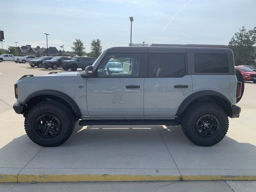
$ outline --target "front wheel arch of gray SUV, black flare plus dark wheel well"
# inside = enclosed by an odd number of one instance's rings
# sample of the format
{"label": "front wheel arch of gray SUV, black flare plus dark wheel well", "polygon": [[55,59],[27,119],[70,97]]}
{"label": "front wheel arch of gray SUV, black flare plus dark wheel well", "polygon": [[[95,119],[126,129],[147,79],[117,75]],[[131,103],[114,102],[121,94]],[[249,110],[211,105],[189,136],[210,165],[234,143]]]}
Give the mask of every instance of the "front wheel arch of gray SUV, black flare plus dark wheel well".
{"label": "front wheel arch of gray SUV, black flare plus dark wheel well", "polygon": [[22,104],[30,104],[33,102],[40,102],[42,100],[62,100],[64,101],[70,108],[74,111],[76,116],[81,117],[82,113],[76,104],[76,102],[67,94],[64,94],[62,92],[56,91],[56,90],[42,90],[38,92],[34,92],[30,96],[28,96]]}

